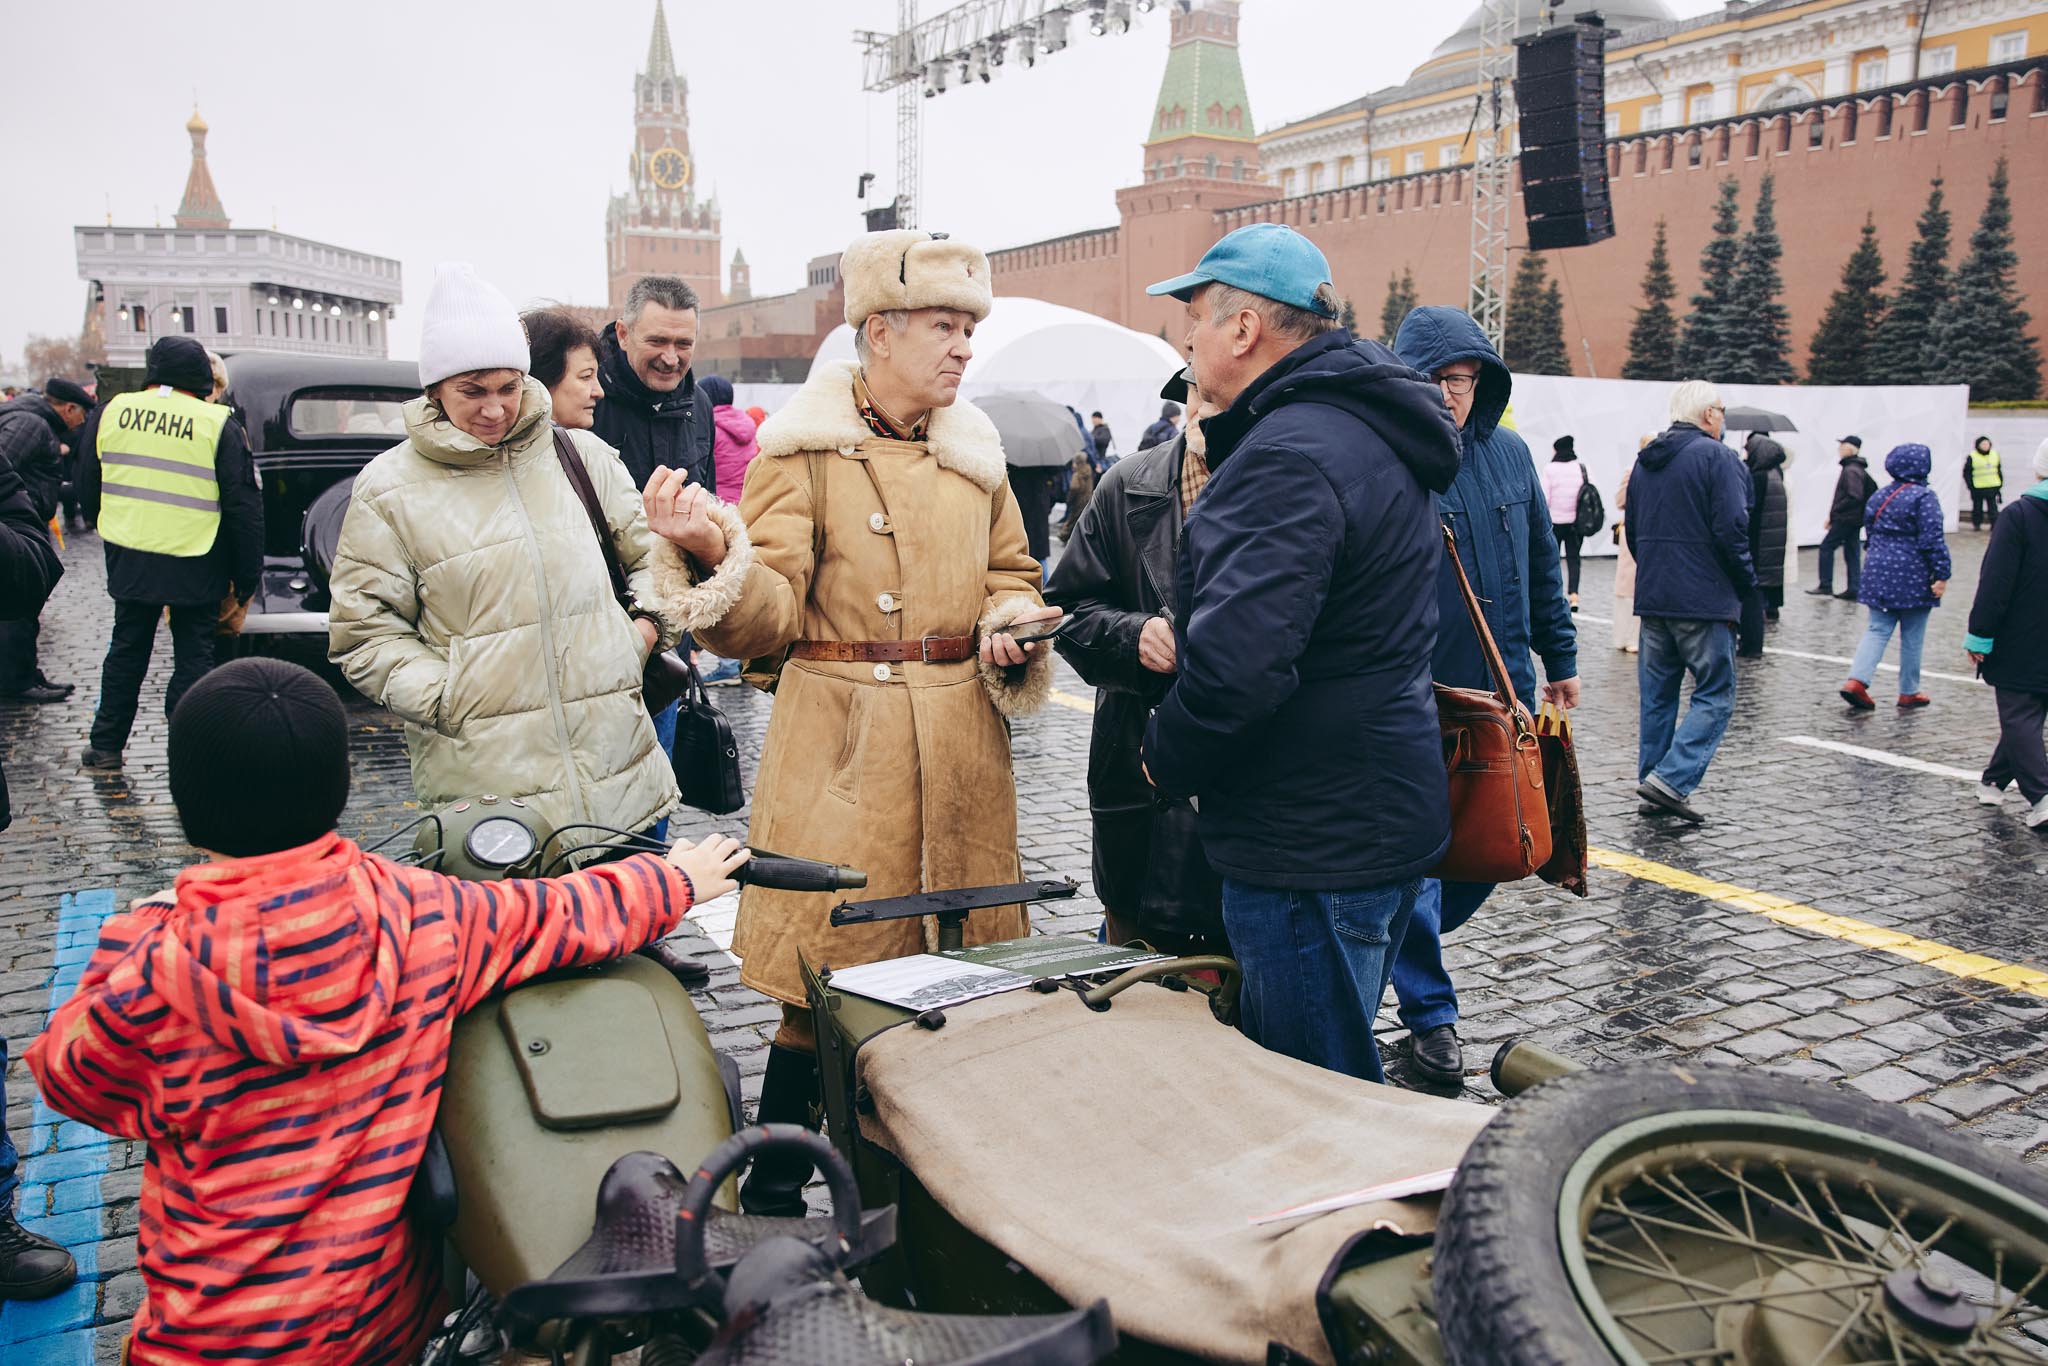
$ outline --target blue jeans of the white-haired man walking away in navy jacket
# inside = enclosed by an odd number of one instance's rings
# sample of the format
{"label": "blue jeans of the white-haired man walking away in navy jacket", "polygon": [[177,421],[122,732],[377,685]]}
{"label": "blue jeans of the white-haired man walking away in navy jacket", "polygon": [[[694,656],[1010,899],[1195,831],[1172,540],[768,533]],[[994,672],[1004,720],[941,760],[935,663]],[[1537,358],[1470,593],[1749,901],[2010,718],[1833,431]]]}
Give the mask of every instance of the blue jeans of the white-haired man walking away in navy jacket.
{"label": "blue jeans of the white-haired man walking away in navy jacket", "polygon": [[[1686,674],[1692,674],[1692,707],[1681,723],[1677,696]],[[1636,776],[1657,774],[1673,793],[1690,797],[1735,717],[1735,627],[1724,621],[1645,616],[1636,692]]]}

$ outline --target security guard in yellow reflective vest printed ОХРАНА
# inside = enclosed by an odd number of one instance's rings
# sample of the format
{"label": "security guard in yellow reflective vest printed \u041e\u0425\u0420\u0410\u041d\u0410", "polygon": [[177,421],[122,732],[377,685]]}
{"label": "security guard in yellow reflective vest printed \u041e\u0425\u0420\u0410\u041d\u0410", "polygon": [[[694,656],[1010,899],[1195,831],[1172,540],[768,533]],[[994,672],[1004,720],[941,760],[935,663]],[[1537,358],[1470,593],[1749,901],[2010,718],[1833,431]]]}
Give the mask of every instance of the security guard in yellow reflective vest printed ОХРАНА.
{"label": "security guard in yellow reflective vest printed \u041e\u0425\u0420\u0410\u041d\u0410", "polygon": [[262,573],[262,487],[242,424],[207,403],[213,367],[188,336],[150,348],[143,389],[92,414],[80,432],[78,500],[106,543],[115,635],[100,672],[86,768],[121,768],[170,608],[172,672],[164,715],[213,668],[213,635],[256,594]]}

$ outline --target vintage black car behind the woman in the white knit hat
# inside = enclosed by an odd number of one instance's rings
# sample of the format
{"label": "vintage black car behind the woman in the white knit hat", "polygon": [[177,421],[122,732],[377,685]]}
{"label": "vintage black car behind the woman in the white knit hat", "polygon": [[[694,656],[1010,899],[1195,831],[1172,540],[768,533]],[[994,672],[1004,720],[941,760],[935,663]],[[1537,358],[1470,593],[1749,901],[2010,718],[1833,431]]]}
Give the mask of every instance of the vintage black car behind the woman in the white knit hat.
{"label": "vintage black car behind the woman in the white knit hat", "polygon": [[[328,569],[356,473],[406,440],[401,408],[420,395],[412,360],[227,356],[227,403],[248,430],[262,479],[262,588],[229,653],[328,643]],[[223,641],[225,645],[225,641]]]}

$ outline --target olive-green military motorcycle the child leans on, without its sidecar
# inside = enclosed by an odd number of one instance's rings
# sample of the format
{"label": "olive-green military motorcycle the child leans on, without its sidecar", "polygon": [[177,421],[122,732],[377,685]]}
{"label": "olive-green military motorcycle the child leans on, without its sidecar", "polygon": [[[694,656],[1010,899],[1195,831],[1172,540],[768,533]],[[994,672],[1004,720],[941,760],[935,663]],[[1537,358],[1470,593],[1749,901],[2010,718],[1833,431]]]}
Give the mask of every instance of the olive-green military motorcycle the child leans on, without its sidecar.
{"label": "olive-green military motorcycle the child leans on, without its sidecar", "polygon": [[[551,877],[610,848],[662,846],[604,825],[549,829],[518,799],[422,817],[410,862],[469,881]],[[393,836],[397,840],[406,831]],[[854,868],[754,852],[737,881],[842,891]],[[444,1245],[467,1296],[424,1362],[496,1362],[506,1346],[596,1366],[664,1362],[1073,1362],[1114,1346],[1108,1309],[922,1315],[846,1278],[895,1237],[817,1135],[741,1128],[739,1069],[711,1047],[674,963],[627,954],[551,973],[455,1024],[440,1110],[408,1212]],[[829,1216],[737,1212],[735,1176],[797,1147]],[[690,1176],[684,1176],[690,1171]],[[770,1313],[772,1311],[772,1313]]]}

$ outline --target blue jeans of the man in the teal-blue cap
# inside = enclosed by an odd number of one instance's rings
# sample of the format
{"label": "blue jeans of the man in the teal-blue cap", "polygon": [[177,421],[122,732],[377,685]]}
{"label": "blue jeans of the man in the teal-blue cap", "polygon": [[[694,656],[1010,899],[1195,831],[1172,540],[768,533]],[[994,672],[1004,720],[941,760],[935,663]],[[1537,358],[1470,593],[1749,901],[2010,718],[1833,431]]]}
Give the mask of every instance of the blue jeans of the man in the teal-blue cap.
{"label": "blue jeans of the man in the teal-blue cap", "polygon": [[1245,971],[1243,1030],[1288,1057],[1380,1081],[1372,1022],[1421,879],[1292,891],[1223,879],[1223,928]]}

